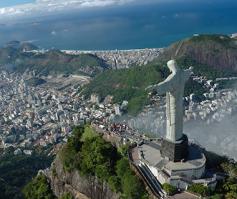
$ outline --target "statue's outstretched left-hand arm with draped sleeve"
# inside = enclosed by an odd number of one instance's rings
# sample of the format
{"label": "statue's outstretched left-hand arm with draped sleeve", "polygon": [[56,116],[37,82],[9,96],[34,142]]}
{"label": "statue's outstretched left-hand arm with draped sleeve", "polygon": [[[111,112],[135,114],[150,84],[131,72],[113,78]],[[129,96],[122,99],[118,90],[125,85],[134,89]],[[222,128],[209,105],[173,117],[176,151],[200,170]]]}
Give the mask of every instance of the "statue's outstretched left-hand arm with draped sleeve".
{"label": "statue's outstretched left-hand arm with draped sleeve", "polygon": [[146,88],[147,91],[156,91],[158,95],[163,95],[166,92],[170,91],[172,88],[172,82],[174,75],[171,74],[167,79],[159,84],[151,85]]}

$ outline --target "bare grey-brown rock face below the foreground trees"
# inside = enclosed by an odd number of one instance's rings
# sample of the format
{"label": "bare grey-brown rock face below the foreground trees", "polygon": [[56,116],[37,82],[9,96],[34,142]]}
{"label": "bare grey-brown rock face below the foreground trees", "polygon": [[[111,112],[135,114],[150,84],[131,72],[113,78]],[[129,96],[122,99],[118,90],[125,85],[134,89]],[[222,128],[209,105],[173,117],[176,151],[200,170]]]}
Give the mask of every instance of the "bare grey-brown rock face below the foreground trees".
{"label": "bare grey-brown rock face below the foreground trees", "polygon": [[65,172],[57,156],[44,174],[49,179],[51,188],[57,197],[64,193],[71,193],[75,199],[118,199],[106,183],[101,183],[94,176],[84,177],[77,170]]}

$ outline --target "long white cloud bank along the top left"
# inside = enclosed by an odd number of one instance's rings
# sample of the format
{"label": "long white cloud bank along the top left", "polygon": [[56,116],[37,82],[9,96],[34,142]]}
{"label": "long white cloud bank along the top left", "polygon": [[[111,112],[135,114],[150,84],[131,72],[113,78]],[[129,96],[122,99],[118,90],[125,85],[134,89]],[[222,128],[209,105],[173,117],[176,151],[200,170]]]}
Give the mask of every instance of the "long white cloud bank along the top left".
{"label": "long white cloud bank along the top left", "polygon": [[78,8],[124,5],[135,0],[36,0],[35,3],[0,8],[0,19],[50,14]]}

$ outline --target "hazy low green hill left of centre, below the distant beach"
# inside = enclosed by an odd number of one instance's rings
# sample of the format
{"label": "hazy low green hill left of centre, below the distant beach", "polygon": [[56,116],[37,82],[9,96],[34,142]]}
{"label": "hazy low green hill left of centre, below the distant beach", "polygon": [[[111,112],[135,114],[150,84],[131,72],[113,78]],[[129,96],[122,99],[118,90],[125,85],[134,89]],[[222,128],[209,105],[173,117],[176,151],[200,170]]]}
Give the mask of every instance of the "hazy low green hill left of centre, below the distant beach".
{"label": "hazy low green hill left of centre, below the distant beach", "polygon": [[104,62],[90,54],[66,55],[53,50],[45,54],[24,57],[17,61],[15,70],[34,70],[36,74],[85,74],[93,76],[105,68]]}

